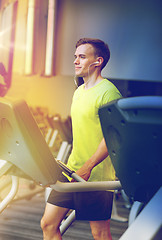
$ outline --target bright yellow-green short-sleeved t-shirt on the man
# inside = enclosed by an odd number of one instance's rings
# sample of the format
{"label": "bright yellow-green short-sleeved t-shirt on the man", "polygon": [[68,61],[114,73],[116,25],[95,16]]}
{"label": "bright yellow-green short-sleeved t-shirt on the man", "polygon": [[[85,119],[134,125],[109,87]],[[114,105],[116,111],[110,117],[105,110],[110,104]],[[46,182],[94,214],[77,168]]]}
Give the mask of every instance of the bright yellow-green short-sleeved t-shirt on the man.
{"label": "bright yellow-green short-sleeved t-shirt on the man", "polygon": [[[75,91],[71,105],[73,149],[67,164],[70,169],[77,171],[96,152],[103,139],[98,109],[120,97],[117,88],[107,79],[88,90],[83,84]],[[115,171],[108,156],[93,168],[89,181],[114,179]]]}

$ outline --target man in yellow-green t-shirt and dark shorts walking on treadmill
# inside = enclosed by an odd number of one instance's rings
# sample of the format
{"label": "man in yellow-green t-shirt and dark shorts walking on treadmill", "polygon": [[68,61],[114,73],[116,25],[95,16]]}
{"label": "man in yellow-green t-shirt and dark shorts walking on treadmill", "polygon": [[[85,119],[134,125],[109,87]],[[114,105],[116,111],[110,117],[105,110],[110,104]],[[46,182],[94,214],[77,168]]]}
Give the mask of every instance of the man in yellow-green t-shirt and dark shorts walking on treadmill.
{"label": "man in yellow-green t-shirt and dark shorts walking on treadmill", "polygon": [[[99,39],[80,39],[75,51],[75,75],[84,84],[74,93],[71,107],[73,149],[68,167],[86,181],[115,179],[108,150],[100,126],[98,109],[109,101],[120,98],[117,88],[101,76],[110,58],[110,51]],[[61,181],[67,181],[65,176]],[[44,240],[62,239],[61,221],[70,208],[77,219],[89,220],[94,239],[111,240],[110,218],[113,192],[57,193],[52,191],[41,221]]]}

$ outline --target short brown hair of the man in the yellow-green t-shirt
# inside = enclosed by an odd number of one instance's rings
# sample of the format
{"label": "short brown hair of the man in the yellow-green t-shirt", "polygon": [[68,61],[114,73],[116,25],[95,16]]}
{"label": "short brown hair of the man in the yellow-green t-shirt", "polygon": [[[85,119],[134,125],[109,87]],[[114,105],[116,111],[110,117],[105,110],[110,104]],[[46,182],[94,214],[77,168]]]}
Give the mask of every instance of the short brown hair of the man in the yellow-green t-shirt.
{"label": "short brown hair of the man in the yellow-green t-shirt", "polygon": [[110,59],[110,50],[108,45],[100,39],[95,38],[81,38],[76,43],[76,48],[83,44],[91,44],[95,50],[97,57],[103,57],[104,61],[101,65],[101,70],[106,66]]}

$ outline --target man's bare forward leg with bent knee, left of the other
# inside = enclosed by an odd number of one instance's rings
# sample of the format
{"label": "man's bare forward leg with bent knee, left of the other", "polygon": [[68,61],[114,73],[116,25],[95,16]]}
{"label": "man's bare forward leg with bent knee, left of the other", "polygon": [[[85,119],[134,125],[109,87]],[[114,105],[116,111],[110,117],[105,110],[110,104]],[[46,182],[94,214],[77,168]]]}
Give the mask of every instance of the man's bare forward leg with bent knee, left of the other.
{"label": "man's bare forward leg with bent knee, left of the other", "polygon": [[58,207],[50,203],[46,204],[45,212],[41,219],[44,240],[62,239],[59,227],[68,211],[68,208]]}

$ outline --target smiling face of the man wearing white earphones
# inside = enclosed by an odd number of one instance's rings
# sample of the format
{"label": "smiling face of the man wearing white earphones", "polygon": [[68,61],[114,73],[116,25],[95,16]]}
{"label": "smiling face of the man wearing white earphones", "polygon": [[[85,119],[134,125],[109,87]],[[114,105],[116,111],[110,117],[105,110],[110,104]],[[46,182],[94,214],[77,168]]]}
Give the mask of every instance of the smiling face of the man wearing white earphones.
{"label": "smiling face of the man wearing white earphones", "polygon": [[76,49],[74,57],[75,75],[78,77],[87,77],[90,69],[91,71],[94,69],[94,66],[91,64],[97,61],[93,46],[91,44],[80,45]]}

